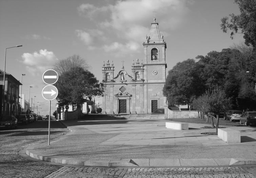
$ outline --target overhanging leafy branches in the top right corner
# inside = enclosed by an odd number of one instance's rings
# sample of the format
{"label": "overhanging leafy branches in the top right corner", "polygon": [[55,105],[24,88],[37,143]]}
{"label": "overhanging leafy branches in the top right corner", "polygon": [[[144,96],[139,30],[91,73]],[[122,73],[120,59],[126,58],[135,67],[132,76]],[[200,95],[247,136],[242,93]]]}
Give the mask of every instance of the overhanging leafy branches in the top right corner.
{"label": "overhanging leafy branches in the top right corner", "polygon": [[256,1],[255,0],[235,0],[241,14],[230,14],[221,19],[221,29],[227,33],[231,30],[230,37],[233,39],[235,33],[243,33],[246,45],[252,45],[256,49]]}

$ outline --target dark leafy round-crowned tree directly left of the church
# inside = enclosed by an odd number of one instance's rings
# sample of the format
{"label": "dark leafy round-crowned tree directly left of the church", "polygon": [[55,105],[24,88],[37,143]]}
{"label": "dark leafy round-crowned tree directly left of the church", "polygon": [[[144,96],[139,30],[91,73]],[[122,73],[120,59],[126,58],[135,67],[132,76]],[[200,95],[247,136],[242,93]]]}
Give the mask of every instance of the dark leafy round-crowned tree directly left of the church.
{"label": "dark leafy round-crowned tree directly left of the church", "polygon": [[[76,104],[77,110],[85,102],[84,97],[101,96],[103,93],[102,84],[94,75],[81,67],[71,68],[59,76],[55,86],[58,88],[57,100],[66,104]],[[63,104],[62,104],[63,105]]]}

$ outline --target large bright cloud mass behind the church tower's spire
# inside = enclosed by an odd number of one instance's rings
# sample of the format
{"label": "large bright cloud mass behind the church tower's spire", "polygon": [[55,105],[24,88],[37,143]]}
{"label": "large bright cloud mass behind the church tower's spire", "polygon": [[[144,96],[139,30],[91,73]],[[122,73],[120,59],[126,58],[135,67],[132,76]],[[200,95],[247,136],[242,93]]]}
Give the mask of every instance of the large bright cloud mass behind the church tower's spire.
{"label": "large bright cloud mass behind the church tower's spire", "polygon": [[[99,36],[108,36],[112,40],[107,41],[111,45],[106,43],[103,45],[102,48],[106,52],[119,50],[127,53],[128,50],[136,51],[139,48],[137,44],[141,46],[145,35],[149,34],[150,23],[154,18],[153,11],[156,11],[156,22],[159,22],[160,33],[168,36],[170,30],[181,28],[182,24],[186,23],[185,15],[190,12],[187,6],[192,3],[193,0],[127,0],[101,7],[82,4],[78,7],[78,11],[98,26],[102,33]],[[104,16],[104,19],[101,20],[100,16]],[[85,33],[80,31],[79,34],[86,45],[96,38],[90,29]],[[102,40],[103,44],[106,42],[106,38],[97,40]]]}

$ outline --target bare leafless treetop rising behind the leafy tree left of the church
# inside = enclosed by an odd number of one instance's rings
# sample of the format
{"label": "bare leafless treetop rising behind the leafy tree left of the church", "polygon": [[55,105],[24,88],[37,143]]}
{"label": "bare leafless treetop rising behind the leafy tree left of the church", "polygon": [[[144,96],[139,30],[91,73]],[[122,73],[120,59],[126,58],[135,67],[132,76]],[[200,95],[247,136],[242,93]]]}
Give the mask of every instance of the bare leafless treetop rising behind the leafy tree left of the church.
{"label": "bare leafless treetop rising behind the leafy tree left of the church", "polygon": [[90,69],[90,66],[88,66],[85,59],[81,58],[79,55],[73,55],[56,62],[54,65],[54,70],[58,72],[59,75],[62,75],[64,72],[70,71],[71,68],[76,67],[83,68],[85,71]]}

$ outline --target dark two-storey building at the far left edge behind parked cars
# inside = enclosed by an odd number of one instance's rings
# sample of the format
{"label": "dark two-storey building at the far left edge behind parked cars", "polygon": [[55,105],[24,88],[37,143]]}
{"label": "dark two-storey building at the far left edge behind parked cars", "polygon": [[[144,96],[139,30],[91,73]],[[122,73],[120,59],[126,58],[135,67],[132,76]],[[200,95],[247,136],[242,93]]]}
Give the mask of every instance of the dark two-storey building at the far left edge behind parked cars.
{"label": "dark two-storey building at the far left edge behind parked cars", "polygon": [[[0,82],[3,83],[3,71],[0,70]],[[18,115],[19,114],[19,85],[22,85],[19,80],[14,78],[11,74],[5,72],[5,91],[3,97],[3,85],[0,85],[0,112],[5,115]],[[2,106],[4,100],[4,107]]]}

